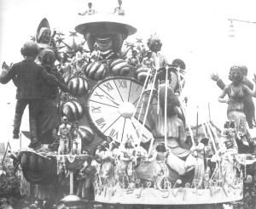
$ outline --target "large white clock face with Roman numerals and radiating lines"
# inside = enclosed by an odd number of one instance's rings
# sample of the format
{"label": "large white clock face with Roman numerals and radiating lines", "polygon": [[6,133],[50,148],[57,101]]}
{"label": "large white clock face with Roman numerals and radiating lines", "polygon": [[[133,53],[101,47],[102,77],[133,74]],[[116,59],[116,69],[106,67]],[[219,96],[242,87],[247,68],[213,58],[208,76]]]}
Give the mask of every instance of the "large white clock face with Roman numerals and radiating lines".
{"label": "large white clock face with Roman numerals and radiating lines", "polygon": [[147,142],[152,139],[144,116],[147,105],[143,104],[143,86],[125,77],[112,77],[96,84],[88,99],[89,117],[98,133],[124,143]]}

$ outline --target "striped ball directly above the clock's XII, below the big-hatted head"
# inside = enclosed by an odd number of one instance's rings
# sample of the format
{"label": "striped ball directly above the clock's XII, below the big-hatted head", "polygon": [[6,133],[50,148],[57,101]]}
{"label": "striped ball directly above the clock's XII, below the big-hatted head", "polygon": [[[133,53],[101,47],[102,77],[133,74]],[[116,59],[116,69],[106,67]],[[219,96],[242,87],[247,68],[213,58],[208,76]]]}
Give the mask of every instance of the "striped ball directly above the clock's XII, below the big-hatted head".
{"label": "striped ball directly above the clock's XII, below the big-hatted head", "polygon": [[129,65],[125,59],[115,59],[110,64],[110,71],[115,76],[125,76],[131,70],[131,65]]}

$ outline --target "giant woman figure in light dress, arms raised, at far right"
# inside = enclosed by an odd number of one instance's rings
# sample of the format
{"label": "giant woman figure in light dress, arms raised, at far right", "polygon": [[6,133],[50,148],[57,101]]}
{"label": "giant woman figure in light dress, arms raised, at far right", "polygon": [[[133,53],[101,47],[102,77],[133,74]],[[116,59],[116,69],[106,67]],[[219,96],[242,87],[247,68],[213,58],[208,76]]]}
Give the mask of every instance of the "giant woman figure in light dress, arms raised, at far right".
{"label": "giant woman figure in light dress, arms raised, at far right", "polygon": [[[244,111],[244,99],[248,96],[256,97],[256,89],[254,92],[245,85],[242,80],[244,77],[243,67],[234,65],[230,68],[231,83],[225,86],[223,93],[218,98],[221,103],[228,104],[227,115],[230,121],[235,121],[236,132],[240,139],[247,136],[247,120]],[[254,75],[253,82],[256,82]],[[229,99],[224,97],[228,95]]]}

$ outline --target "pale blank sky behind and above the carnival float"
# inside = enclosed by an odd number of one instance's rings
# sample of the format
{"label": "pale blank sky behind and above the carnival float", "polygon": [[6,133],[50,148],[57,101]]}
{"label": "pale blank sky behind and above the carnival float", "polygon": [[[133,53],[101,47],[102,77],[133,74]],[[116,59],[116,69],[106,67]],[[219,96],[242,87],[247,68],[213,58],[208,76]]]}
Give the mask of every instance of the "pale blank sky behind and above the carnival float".
{"label": "pale blank sky behind and above the carnival float", "polygon": [[[98,12],[112,12],[117,0],[92,0]],[[0,64],[22,59],[20,48],[34,36],[39,22],[46,17],[51,29],[69,35],[86,17],[80,17],[89,1],[85,0],[1,0]],[[226,120],[226,104],[218,103],[221,91],[209,79],[218,72],[226,83],[231,65],[247,65],[251,79],[256,72],[256,24],[233,22],[235,37],[230,37],[228,19],[256,21],[255,1],[249,0],[123,0],[123,8],[137,34],[147,40],[156,32],[162,42],[162,53],[172,59],[183,59],[187,66],[184,94],[189,98],[188,118],[195,124],[196,107],[200,121],[209,120],[219,127]],[[132,37],[131,37],[132,38]],[[15,112],[15,87],[12,82],[0,84],[0,142],[12,138]],[[27,113],[21,130],[27,130]]]}

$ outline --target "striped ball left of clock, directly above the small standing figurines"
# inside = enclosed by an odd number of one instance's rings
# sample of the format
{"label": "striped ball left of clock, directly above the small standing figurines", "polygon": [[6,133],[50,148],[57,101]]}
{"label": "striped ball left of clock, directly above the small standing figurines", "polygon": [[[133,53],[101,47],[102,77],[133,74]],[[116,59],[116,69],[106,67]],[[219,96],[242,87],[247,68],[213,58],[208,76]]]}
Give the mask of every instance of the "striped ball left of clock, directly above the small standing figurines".
{"label": "striped ball left of clock, directly above the small standing figurines", "polygon": [[70,100],[63,104],[62,113],[69,121],[78,121],[84,115],[84,108],[78,101]]}

